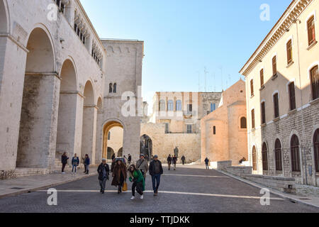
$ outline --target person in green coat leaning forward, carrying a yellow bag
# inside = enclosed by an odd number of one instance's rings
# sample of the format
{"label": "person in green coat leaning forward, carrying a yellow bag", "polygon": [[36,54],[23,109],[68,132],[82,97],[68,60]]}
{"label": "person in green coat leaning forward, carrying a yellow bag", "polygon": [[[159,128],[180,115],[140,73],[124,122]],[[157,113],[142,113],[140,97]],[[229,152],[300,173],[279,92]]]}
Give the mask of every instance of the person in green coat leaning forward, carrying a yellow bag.
{"label": "person in green coat leaning forward, carrying a yellow bag", "polygon": [[132,184],[132,198],[131,200],[135,199],[135,189],[138,194],[140,194],[140,199],[144,199],[143,192],[145,191],[145,179],[142,175],[142,172],[135,167],[135,165],[130,165],[129,168],[129,180],[133,182]]}

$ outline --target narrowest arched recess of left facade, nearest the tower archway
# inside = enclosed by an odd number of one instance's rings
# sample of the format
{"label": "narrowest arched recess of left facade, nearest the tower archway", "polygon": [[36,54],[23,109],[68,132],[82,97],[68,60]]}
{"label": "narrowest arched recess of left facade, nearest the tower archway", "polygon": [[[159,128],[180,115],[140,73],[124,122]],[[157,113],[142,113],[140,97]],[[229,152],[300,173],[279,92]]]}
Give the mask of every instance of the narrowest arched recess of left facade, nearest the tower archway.
{"label": "narrowest arched recess of left facade, nearest the tower archway", "polygon": [[[84,105],[83,105],[83,124],[82,124],[82,148],[81,157],[84,160],[85,155],[89,155],[91,162],[94,161],[94,129],[96,122],[94,121],[96,114],[96,106],[94,104],[94,89],[91,82],[86,82],[84,87]],[[94,157],[93,157],[94,156]]]}

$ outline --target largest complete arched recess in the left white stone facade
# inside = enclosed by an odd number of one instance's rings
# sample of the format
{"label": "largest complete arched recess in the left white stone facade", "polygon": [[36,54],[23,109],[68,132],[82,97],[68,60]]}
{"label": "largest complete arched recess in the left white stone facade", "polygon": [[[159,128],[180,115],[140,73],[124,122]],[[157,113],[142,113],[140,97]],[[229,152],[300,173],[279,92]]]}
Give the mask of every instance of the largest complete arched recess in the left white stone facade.
{"label": "largest complete arched recess in the left white stone facade", "polygon": [[26,74],[18,139],[16,167],[47,167],[52,133],[52,96],[57,77],[50,38],[35,28],[28,39]]}

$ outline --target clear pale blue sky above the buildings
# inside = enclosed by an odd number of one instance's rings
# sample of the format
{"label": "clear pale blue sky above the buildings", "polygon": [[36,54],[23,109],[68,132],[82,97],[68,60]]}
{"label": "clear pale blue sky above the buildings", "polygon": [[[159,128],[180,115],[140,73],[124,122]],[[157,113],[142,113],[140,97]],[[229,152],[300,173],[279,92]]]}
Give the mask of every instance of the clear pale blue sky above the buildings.
{"label": "clear pale blue sky above the buildings", "polygon": [[237,82],[291,0],[81,2],[100,38],[145,42],[142,97],[152,106],[155,92],[221,92]]}

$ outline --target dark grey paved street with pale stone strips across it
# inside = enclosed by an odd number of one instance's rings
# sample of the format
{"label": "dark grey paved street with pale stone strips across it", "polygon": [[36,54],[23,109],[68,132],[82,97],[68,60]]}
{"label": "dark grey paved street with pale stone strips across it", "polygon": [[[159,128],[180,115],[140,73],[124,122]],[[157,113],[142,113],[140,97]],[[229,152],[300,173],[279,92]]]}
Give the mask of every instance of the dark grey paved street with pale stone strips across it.
{"label": "dark grey paved street with pale stone strips across it", "polygon": [[56,189],[57,206],[47,205],[48,195],[43,190],[0,199],[0,212],[319,212],[314,207],[274,195],[270,206],[262,206],[259,189],[214,170],[191,166],[165,170],[157,197],[152,195],[151,178],[147,176],[144,200],[137,196],[130,201],[130,191],[118,195],[111,182],[108,192],[99,194],[97,176],[62,184]]}

